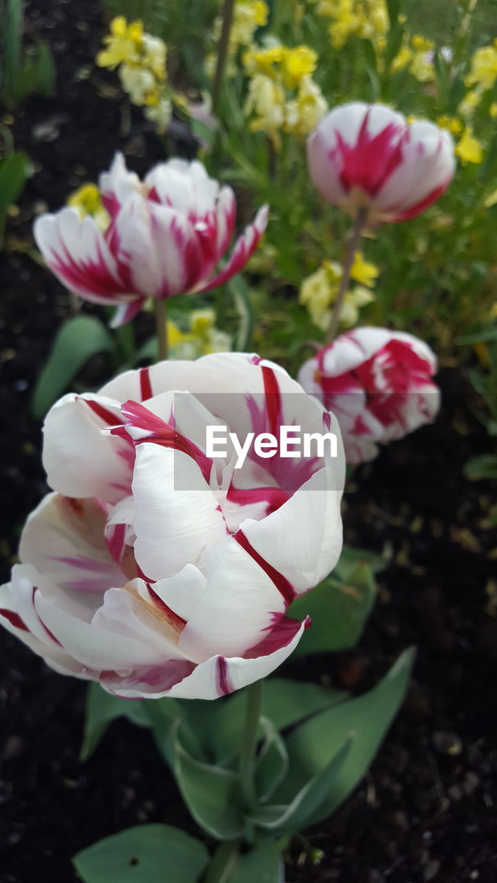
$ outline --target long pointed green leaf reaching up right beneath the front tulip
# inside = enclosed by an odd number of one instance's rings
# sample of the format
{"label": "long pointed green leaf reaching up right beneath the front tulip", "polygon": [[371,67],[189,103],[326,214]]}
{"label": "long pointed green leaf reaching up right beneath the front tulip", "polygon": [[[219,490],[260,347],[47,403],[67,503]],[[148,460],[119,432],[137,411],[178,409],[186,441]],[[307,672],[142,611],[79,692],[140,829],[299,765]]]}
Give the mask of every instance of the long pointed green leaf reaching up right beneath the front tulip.
{"label": "long pointed green leaf reaching up right beneath the front tulip", "polygon": [[363,778],[387,729],[394,720],[409,683],[414,651],[402,653],[373,690],[315,715],[287,738],[290,774],[274,795],[274,803],[288,804],[314,776],[322,774],[340,746],[354,735],[350,751],[325,799],[306,824],[330,815]]}

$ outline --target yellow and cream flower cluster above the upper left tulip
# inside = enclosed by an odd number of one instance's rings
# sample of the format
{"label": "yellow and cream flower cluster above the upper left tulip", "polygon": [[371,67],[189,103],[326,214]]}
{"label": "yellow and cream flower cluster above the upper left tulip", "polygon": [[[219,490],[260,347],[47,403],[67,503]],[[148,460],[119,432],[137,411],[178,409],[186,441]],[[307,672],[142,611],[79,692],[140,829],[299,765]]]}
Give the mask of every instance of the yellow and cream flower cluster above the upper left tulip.
{"label": "yellow and cream flower cluster above the upper left tulip", "polygon": [[99,67],[119,68],[121,86],[131,102],[145,107],[145,116],[164,132],[171,119],[172,104],[167,91],[164,40],[143,31],[143,22],[129,25],[124,16],[111,20],[110,34],[103,38],[105,49],[96,56]]}

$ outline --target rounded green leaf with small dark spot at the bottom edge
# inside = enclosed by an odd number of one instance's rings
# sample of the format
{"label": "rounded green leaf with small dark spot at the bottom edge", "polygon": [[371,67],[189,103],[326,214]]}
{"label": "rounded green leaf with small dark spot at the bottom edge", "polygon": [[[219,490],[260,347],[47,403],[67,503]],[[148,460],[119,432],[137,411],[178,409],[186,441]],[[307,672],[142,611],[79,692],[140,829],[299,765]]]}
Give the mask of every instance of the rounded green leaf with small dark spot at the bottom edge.
{"label": "rounded green leaf with small dark spot at the bottom edge", "polygon": [[198,883],[208,861],[203,843],[169,825],[127,828],[73,858],[85,883]]}

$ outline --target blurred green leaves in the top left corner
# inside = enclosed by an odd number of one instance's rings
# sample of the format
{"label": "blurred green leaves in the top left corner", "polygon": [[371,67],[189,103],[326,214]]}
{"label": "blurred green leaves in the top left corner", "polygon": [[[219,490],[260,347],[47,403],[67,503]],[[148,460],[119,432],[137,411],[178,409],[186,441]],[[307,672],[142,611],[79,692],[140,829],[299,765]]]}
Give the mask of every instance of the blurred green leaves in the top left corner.
{"label": "blurred green leaves in the top left corner", "polygon": [[55,64],[47,43],[23,47],[24,0],[0,0],[0,104],[14,109],[29,94],[55,92]]}

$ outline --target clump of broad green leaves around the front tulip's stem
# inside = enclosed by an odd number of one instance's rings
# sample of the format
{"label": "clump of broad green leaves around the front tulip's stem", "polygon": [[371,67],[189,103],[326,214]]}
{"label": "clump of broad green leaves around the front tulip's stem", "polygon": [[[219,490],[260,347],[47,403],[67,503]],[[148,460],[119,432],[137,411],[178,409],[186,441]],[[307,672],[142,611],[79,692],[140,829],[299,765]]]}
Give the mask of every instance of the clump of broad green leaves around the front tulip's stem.
{"label": "clump of broad green leaves around the front tulip's stem", "polygon": [[373,690],[353,699],[314,684],[265,682],[251,805],[238,767],[247,690],[222,703],[196,703],[193,717],[188,702],[146,707],[153,708],[157,743],[166,737],[166,759],[197,824],[218,840],[256,841],[325,818],[356,787],[401,705],[411,662],[412,653],[404,653]]}

